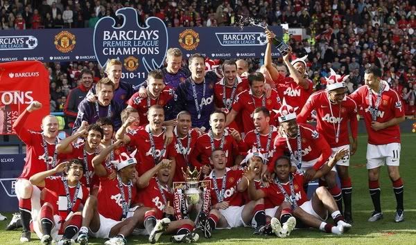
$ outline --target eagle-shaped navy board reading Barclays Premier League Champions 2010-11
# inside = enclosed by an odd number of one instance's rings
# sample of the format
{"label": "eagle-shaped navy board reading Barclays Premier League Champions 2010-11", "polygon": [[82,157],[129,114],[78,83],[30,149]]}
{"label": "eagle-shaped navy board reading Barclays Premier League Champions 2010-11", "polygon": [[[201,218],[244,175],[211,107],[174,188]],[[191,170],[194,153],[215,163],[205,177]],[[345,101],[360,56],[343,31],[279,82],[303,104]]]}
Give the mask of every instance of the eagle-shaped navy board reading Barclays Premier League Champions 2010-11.
{"label": "eagle-shaped navy board reading Barclays Premier League Champions 2010-11", "polygon": [[95,26],[96,59],[101,66],[112,58],[120,60],[123,62],[121,79],[141,83],[149,71],[163,66],[168,50],[168,30],[156,17],[146,19],[144,27],[139,26],[134,8],[119,9],[116,15],[123,16],[123,26],[116,27],[112,17],[101,18]]}

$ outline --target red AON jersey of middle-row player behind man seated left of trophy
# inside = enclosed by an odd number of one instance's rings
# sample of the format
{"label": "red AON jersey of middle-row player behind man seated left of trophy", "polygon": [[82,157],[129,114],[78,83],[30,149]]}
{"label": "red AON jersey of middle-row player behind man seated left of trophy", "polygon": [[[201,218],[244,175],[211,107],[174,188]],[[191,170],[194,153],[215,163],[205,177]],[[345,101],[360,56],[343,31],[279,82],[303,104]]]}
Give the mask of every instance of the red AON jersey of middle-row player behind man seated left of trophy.
{"label": "red AON jersey of middle-row player behind man seated left of trophy", "polygon": [[[175,143],[172,142],[169,145],[166,145],[166,150],[163,152],[164,148],[164,131],[162,131],[159,135],[154,135],[153,139],[155,140],[155,155],[153,156],[152,147],[150,143],[150,136],[149,136],[149,126],[146,125],[145,129],[139,129],[135,131],[134,134],[130,132],[128,136],[130,136],[130,145],[137,147],[136,153],[136,170],[141,174],[144,174],[146,171],[150,170],[152,167],[155,167],[155,158],[158,158],[159,161],[165,158],[175,158],[176,151],[175,151]],[[163,152],[163,155],[162,155]],[[157,163],[159,163],[159,161]]]}

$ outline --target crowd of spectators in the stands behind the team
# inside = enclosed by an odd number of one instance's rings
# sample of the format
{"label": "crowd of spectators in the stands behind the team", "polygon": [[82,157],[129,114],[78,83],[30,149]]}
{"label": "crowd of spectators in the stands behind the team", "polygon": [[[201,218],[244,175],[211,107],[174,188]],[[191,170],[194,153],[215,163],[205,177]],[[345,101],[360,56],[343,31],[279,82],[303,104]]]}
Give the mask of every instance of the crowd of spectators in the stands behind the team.
{"label": "crowd of spectators in the stands behind the team", "polygon": [[[308,55],[309,78],[315,89],[324,88],[322,78],[330,69],[349,74],[349,93],[363,84],[365,68],[376,64],[383,80],[397,90],[406,114],[415,115],[416,98],[416,6],[413,1],[323,0],[323,1],[28,1],[0,0],[0,29],[86,28],[105,16],[116,16],[119,8],[137,9],[140,24],[156,16],[167,26],[236,26],[239,15],[250,16],[269,25],[287,23],[304,28],[306,36],[286,41],[297,57]],[[258,69],[261,60],[250,60]],[[281,62],[280,59],[275,60]],[[186,64],[186,61],[184,61]],[[83,68],[103,77],[96,62],[47,63],[51,77],[51,111],[62,111],[69,90],[79,82]]]}

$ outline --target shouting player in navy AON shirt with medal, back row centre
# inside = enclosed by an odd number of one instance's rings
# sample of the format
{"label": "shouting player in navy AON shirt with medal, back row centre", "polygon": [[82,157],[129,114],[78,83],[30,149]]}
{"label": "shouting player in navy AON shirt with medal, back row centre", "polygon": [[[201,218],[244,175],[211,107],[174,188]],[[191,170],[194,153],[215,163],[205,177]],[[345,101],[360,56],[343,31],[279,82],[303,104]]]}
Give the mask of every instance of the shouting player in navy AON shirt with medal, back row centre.
{"label": "shouting player in navy AON shirt with medal, back row centre", "polygon": [[192,127],[205,131],[209,127],[209,116],[214,111],[214,84],[216,74],[205,73],[205,59],[199,53],[189,57],[191,76],[179,84],[175,92],[175,114],[189,111]]}

